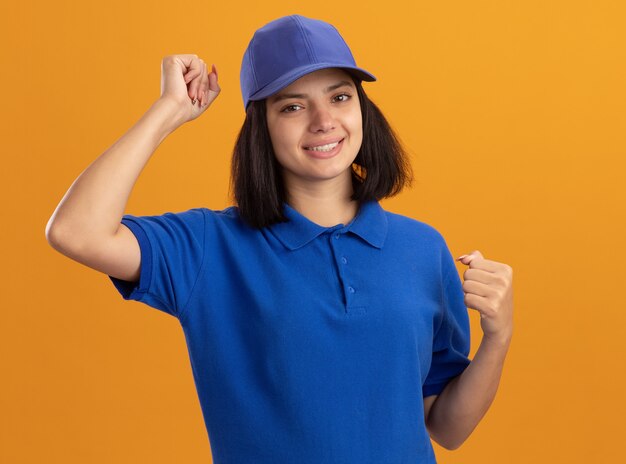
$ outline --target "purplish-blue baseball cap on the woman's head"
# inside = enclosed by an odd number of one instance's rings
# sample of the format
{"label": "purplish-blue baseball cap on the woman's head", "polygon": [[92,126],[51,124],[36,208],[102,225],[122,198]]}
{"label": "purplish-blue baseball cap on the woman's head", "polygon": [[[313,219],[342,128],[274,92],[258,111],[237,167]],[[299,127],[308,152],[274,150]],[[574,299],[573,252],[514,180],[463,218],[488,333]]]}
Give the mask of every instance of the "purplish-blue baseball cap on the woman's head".
{"label": "purplish-blue baseball cap on the woman's head", "polygon": [[356,78],[376,77],[357,67],[339,31],[319,19],[284,16],[258,29],[241,62],[244,110],[251,100],[262,100],[318,69],[343,68]]}

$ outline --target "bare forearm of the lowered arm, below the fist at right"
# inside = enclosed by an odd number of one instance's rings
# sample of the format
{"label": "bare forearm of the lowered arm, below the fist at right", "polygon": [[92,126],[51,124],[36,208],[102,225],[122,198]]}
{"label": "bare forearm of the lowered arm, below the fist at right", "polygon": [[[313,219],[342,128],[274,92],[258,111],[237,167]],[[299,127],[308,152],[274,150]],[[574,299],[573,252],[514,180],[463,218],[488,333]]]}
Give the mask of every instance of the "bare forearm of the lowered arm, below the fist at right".
{"label": "bare forearm of the lowered arm, below the fist at right", "polygon": [[469,366],[437,397],[427,423],[437,443],[456,449],[476,428],[495,398],[509,344],[483,338]]}

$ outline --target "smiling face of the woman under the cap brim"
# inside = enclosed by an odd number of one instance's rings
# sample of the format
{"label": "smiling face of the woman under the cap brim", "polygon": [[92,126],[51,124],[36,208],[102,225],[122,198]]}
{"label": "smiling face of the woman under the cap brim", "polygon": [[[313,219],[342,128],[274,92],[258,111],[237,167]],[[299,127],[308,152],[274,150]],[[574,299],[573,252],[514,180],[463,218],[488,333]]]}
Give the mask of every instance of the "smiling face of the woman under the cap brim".
{"label": "smiling face of the woman under the cap brim", "polygon": [[363,125],[356,87],[338,68],[306,74],[266,100],[267,126],[287,189],[334,180],[351,185]]}

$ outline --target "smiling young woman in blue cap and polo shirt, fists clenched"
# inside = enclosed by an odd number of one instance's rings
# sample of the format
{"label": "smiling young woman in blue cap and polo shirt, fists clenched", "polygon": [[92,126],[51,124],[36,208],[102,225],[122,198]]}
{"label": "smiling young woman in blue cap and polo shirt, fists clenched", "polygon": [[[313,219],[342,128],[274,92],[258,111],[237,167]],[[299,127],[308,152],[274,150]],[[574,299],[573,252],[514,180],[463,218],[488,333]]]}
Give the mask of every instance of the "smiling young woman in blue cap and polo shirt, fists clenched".
{"label": "smiling young woman in blue cap and polo shirt, fists clenched", "polygon": [[429,438],[459,447],[495,396],[511,268],[474,251],[462,284],[437,230],[381,208],[410,166],[333,26],[266,24],[240,78],[236,206],[124,215],[156,147],[220,93],[215,66],[169,56],[161,98],[70,187],[50,244],[180,321],[216,464],[435,462]]}

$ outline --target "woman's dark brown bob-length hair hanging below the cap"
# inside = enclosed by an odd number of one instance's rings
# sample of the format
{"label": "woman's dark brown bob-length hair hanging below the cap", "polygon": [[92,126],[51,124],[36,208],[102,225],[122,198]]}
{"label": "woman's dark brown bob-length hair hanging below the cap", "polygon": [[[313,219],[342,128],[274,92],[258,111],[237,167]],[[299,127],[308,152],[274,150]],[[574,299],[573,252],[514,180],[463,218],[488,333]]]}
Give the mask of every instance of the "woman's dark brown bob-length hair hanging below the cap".
{"label": "woman's dark brown bob-length hair hanging below the cap", "polygon": [[[413,173],[407,152],[380,109],[353,77],[363,118],[363,141],[352,164],[351,199],[359,206],[368,200],[392,197],[411,185]],[[246,110],[231,163],[231,194],[239,215],[262,228],[285,222],[285,186],[267,128],[265,100],[251,101]]]}

